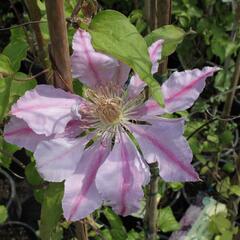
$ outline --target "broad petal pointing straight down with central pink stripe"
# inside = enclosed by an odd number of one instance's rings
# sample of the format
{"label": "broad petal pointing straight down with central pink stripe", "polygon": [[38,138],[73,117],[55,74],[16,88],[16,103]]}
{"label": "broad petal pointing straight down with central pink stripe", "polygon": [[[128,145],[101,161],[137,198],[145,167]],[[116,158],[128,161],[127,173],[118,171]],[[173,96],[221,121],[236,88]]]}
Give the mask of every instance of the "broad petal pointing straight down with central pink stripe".
{"label": "broad petal pointing straight down with central pink stripe", "polygon": [[116,136],[115,145],[99,168],[96,185],[104,200],[123,216],[136,212],[143,197],[142,185],[149,171],[127,134]]}

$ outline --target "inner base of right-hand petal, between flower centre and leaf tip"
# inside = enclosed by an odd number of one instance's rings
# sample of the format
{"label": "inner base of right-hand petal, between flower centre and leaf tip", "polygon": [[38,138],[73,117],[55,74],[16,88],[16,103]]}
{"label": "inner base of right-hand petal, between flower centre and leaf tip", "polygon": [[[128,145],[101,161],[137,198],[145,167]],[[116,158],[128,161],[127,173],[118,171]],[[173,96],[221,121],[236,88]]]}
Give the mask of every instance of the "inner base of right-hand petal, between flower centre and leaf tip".
{"label": "inner base of right-hand petal, between flower centre and leaf tip", "polygon": [[129,117],[136,120],[144,120],[152,116],[162,115],[165,111],[153,99],[147,100],[143,105],[130,112]]}

